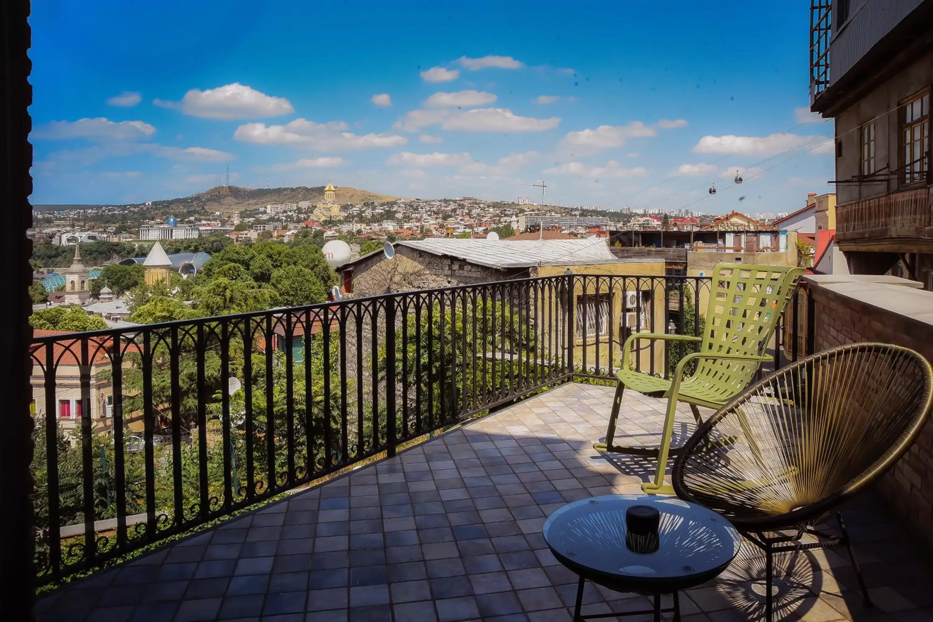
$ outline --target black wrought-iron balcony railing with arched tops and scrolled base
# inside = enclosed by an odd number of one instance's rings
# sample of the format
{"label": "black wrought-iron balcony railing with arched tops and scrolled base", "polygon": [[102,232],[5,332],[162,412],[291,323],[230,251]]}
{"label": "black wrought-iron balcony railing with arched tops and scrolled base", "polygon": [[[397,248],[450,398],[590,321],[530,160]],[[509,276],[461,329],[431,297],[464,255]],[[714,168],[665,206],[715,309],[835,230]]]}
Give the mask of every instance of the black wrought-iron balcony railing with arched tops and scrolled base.
{"label": "black wrought-iron balcony railing with arched tops and scrolled base", "polygon": [[[562,275],[36,338],[38,579],[544,387],[610,378],[633,332],[701,335],[709,289]],[[648,373],[686,353],[647,343],[632,360]]]}

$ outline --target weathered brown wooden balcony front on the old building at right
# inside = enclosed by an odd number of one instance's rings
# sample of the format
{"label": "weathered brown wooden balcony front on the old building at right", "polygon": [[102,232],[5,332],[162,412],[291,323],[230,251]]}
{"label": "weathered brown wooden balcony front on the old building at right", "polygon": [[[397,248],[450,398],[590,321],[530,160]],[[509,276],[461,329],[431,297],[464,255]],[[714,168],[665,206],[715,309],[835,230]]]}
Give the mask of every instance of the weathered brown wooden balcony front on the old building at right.
{"label": "weathered brown wooden balcony front on the old building at right", "polygon": [[933,188],[837,205],[836,241],[843,251],[933,251]]}

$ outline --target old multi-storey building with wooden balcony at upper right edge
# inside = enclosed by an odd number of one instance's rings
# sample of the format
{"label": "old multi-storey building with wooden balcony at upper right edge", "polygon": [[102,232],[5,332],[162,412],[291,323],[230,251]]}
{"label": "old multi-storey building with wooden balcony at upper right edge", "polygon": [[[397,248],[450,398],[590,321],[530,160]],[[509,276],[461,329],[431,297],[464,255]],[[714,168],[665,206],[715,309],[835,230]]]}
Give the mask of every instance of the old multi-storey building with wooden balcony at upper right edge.
{"label": "old multi-storey building with wooden balcony at upper right edge", "polygon": [[811,108],[836,125],[836,242],[854,274],[933,289],[933,0],[811,11]]}

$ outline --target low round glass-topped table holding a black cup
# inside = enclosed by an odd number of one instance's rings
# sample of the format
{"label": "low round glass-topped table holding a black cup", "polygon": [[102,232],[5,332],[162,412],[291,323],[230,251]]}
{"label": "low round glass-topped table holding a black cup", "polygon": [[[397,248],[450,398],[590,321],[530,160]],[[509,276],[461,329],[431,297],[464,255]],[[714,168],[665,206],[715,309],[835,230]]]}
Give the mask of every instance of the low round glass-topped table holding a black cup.
{"label": "low round glass-topped table holding a black cup", "polygon": [[[637,545],[636,534],[626,528],[626,512],[633,506],[657,510],[656,534],[647,547]],[[648,508],[634,512],[652,512]],[[554,557],[580,577],[575,620],[651,613],[661,620],[662,611],[673,612],[678,620],[677,591],[721,573],[740,545],[739,533],[716,512],[675,497],[648,494],[610,494],[564,505],[544,523],[544,539]],[[653,552],[639,552],[648,550]],[[580,615],[586,580],[620,592],[653,595],[654,609]],[[674,595],[672,608],[661,610],[661,594]]]}

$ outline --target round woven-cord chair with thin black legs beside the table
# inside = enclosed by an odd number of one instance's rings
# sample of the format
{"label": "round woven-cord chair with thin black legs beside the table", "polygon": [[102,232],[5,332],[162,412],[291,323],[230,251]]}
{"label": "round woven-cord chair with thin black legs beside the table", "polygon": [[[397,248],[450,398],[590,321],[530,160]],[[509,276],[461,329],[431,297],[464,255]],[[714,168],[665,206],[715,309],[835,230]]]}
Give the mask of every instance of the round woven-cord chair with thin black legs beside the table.
{"label": "round woven-cord chair with thin black legs beside the table", "polygon": [[779,551],[845,545],[870,604],[842,516],[838,532],[816,526],[898,461],[931,406],[933,369],[917,352],[883,343],[819,352],[704,422],[675,462],[674,490],[729,518],[765,552],[769,620]]}

